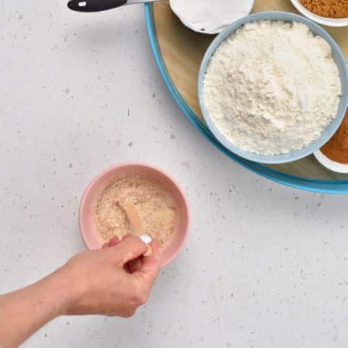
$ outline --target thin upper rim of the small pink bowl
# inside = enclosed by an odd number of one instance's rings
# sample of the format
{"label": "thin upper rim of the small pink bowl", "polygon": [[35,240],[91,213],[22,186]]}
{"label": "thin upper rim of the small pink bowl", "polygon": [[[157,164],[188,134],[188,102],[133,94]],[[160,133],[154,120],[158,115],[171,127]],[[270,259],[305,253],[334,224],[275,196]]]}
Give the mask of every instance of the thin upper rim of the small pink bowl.
{"label": "thin upper rim of the small pink bowl", "polygon": [[121,164],[115,164],[113,166],[110,166],[109,168],[104,169],[104,171],[102,171],[101,173],[99,173],[97,176],[94,177],[94,179],[88,184],[88,186],[86,187],[86,189],[84,190],[84,193],[81,197],[80,200],[80,205],[79,205],[79,230],[80,230],[80,234],[82,239],[84,240],[84,244],[86,245],[86,247],[88,248],[88,250],[91,250],[90,246],[88,245],[88,242],[85,238],[85,228],[84,228],[84,219],[82,218],[83,216],[83,211],[84,211],[84,207],[86,205],[86,198],[88,196],[88,193],[90,191],[90,189],[92,189],[95,184],[97,183],[98,180],[100,180],[101,177],[103,177],[104,175],[106,175],[107,173],[114,171],[115,169],[119,169],[119,168],[125,168],[125,167],[129,167],[129,166],[136,166],[136,167],[143,167],[143,168],[150,168],[154,171],[157,171],[159,173],[161,173],[161,175],[164,175],[165,177],[167,177],[168,180],[170,180],[171,182],[173,182],[173,184],[175,185],[175,187],[177,188],[177,191],[179,191],[180,196],[182,196],[182,200],[184,201],[184,209],[187,212],[187,228],[184,231],[183,237],[180,241],[180,244],[178,246],[178,248],[176,249],[175,253],[173,253],[171,255],[170,258],[166,259],[165,262],[161,262],[161,268],[165,267],[167,264],[169,264],[170,262],[172,262],[177,255],[180,253],[182,247],[184,246],[186,240],[187,240],[187,235],[189,235],[189,228],[191,226],[191,214],[190,214],[190,210],[189,210],[189,202],[184,194],[184,191],[182,191],[181,187],[179,184],[177,184],[177,182],[173,179],[173,177],[171,177],[171,175],[169,175],[168,173],[166,173],[165,171],[162,171],[160,168],[158,168],[157,166],[152,166],[151,164],[146,164],[143,162],[133,162],[133,161],[129,161],[129,162],[124,162]]}

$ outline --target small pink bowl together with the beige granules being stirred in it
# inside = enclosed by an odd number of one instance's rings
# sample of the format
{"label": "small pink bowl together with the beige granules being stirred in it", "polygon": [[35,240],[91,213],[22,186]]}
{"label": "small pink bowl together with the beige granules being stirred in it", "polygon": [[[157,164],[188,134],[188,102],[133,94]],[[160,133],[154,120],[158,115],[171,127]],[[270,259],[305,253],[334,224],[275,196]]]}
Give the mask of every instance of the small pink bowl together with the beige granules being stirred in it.
{"label": "small pink bowl together with the beige granules being stirred in it", "polygon": [[159,168],[127,163],[90,182],[79,208],[79,228],[89,249],[115,236],[149,235],[161,248],[161,267],[171,262],[189,230],[189,207],[177,183]]}

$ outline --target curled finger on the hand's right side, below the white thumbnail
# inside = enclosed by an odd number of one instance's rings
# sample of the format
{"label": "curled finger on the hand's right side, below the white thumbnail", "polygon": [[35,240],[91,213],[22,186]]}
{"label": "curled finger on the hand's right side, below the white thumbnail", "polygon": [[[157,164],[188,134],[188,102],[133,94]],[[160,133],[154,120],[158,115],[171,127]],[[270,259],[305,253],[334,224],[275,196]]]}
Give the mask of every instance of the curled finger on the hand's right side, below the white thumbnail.
{"label": "curled finger on the hand's right side, below the white thumbnail", "polygon": [[139,276],[148,286],[151,287],[155,282],[157,274],[159,274],[160,251],[156,241],[151,243],[152,253],[150,256],[143,258],[143,264],[134,272],[134,275]]}

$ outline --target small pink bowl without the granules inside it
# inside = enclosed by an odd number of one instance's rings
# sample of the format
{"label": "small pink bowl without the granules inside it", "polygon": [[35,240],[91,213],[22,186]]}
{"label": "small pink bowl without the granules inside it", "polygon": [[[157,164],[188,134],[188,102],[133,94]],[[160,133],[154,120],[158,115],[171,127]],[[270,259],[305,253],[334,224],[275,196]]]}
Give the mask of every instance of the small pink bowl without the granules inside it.
{"label": "small pink bowl without the granules inside it", "polygon": [[100,193],[100,190],[109,184],[116,177],[143,174],[152,177],[160,182],[173,196],[175,206],[177,207],[177,223],[171,238],[164,244],[161,250],[161,267],[171,262],[184,244],[184,240],[189,232],[189,205],[184,196],[184,193],[177,183],[166,173],[159,168],[141,163],[126,163],[113,166],[106,171],[103,171],[90,182],[84,196],[81,198],[79,208],[79,228],[88,249],[98,249],[104,244],[104,240],[95,230],[93,222],[93,205],[95,198]]}

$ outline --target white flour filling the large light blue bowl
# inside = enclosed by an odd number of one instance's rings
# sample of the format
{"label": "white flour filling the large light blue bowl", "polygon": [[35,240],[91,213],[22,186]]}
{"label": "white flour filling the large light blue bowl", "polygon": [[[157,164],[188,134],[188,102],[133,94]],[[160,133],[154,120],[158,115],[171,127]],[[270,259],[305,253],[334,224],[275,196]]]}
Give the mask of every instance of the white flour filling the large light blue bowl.
{"label": "white flour filling the large light blue bowl", "polygon": [[319,138],[340,95],[331,47],[298,22],[246,24],[216,49],[203,87],[219,131],[242,150],[264,155]]}

